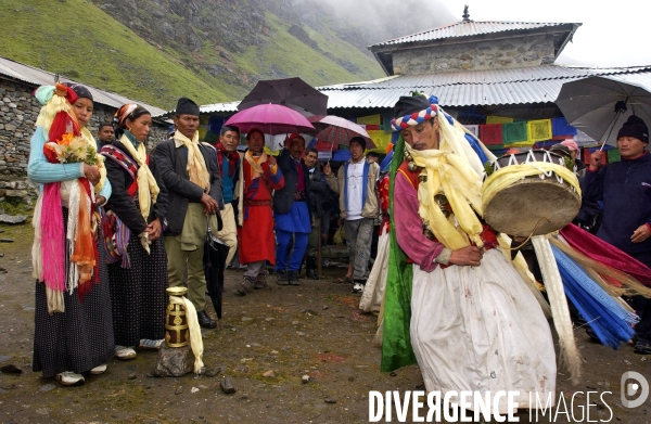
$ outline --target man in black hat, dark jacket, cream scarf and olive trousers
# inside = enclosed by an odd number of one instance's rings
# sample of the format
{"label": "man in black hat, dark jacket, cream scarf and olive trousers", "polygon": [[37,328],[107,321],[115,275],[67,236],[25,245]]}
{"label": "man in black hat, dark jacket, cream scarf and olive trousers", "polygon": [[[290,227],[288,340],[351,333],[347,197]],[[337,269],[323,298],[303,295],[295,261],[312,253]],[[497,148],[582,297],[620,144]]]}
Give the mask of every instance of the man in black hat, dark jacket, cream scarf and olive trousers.
{"label": "man in black hat, dark jacket, cream scarf and olive trousers", "polygon": [[221,179],[210,152],[199,142],[199,115],[196,103],[179,99],[174,138],[156,146],[154,160],[169,198],[165,231],[169,285],[183,284],[187,267],[188,299],[196,309],[199,324],[214,329],[217,323],[205,311],[203,244],[208,224],[217,230]]}

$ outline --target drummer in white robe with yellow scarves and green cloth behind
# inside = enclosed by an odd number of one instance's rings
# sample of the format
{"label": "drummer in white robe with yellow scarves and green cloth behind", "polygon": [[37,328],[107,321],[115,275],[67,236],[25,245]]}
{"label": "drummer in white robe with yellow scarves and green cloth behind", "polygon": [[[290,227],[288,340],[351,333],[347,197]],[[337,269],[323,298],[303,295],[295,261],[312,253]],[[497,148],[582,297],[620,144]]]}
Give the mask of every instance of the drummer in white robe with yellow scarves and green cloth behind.
{"label": "drummer in white robe with yellow scarves and green cloth behind", "polygon": [[[519,408],[553,399],[556,354],[547,319],[494,248],[495,232],[471,208],[481,195],[482,160],[434,98],[401,97],[394,111],[392,126],[400,131],[394,160],[401,159],[403,146],[406,160],[395,172],[391,201],[395,241],[383,371],[414,358],[426,390],[442,396],[513,390]],[[500,401],[494,408],[503,413],[508,406]]]}

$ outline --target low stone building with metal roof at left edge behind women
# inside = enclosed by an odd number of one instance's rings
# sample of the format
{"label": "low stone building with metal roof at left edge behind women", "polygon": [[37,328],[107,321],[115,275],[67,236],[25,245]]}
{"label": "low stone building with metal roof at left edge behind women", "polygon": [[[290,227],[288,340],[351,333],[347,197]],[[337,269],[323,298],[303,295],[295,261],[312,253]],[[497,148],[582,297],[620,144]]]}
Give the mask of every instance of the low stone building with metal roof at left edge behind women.
{"label": "low stone building with metal roof at left edge behind women", "polygon": [[[61,78],[62,81],[71,81]],[[0,200],[8,196],[22,197],[33,188],[27,179],[29,140],[40,104],[33,95],[35,89],[51,85],[54,75],[17,62],[0,57]],[[125,103],[139,103],[151,111],[152,116],[165,111],[122,95],[87,86],[94,98],[94,112],[88,129],[95,134],[100,123],[110,123],[115,111]],[[154,119],[149,145],[164,140],[168,123]],[[27,194],[31,194],[27,192]]]}

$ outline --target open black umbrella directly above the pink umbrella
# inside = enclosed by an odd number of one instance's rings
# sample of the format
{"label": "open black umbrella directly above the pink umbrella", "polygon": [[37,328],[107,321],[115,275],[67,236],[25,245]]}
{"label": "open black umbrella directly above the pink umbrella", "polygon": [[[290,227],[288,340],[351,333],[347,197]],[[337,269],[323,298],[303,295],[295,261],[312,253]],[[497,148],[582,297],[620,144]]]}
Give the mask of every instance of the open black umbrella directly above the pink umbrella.
{"label": "open black umbrella directly above the pink umbrella", "polygon": [[326,115],[328,95],[311,87],[301,78],[269,79],[258,81],[238,105],[239,111],[258,104],[282,104],[283,106],[307,111],[315,115]]}

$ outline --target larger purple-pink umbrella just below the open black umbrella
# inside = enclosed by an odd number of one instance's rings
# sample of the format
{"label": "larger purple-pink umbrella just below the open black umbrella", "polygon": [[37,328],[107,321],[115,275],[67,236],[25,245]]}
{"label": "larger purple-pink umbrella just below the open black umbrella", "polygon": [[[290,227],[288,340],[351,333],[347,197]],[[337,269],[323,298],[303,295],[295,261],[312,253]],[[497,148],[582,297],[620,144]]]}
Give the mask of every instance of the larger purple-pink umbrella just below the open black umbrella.
{"label": "larger purple-pink umbrella just below the open black umbrella", "polygon": [[258,104],[231,116],[226,125],[234,125],[242,132],[257,128],[266,134],[314,132],[315,127],[298,112],[280,104]]}

